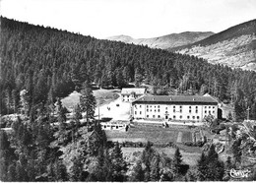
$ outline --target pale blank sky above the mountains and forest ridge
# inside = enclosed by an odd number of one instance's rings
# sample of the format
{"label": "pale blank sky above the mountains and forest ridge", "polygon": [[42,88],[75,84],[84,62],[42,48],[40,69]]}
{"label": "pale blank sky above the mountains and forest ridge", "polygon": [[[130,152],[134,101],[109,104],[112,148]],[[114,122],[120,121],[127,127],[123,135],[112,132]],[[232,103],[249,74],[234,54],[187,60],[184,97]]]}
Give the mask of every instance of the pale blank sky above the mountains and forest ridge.
{"label": "pale blank sky above the mountains and forest ridge", "polygon": [[0,0],[3,17],[106,38],[220,32],[256,19],[256,0]]}

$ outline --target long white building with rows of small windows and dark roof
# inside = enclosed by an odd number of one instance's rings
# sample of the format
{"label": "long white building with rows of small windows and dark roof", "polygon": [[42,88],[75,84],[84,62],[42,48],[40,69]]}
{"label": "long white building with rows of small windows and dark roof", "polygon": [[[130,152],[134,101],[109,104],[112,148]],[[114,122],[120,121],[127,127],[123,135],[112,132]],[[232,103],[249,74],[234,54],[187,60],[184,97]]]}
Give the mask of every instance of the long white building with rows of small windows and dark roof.
{"label": "long white building with rows of small windows and dark roof", "polygon": [[212,96],[154,95],[132,102],[131,114],[137,119],[167,121],[203,121],[218,117],[218,101]]}

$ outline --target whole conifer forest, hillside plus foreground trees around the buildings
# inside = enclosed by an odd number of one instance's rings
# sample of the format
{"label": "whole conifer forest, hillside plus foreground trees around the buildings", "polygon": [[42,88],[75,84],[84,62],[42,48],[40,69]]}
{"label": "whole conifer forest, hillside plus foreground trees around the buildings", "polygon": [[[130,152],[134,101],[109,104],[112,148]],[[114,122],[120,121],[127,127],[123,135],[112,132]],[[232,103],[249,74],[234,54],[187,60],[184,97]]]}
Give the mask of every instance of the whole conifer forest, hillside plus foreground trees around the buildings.
{"label": "whole conifer forest, hillside plus foreground trees around the buildings", "polygon": [[[3,17],[0,37],[0,112],[26,116],[12,123],[11,137],[1,131],[1,181],[224,180],[228,163],[219,159],[214,147],[202,153],[195,172],[181,164],[179,149],[170,159],[160,155],[150,143],[131,175],[127,175],[119,144],[108,145],[100,125],[94,121],[96,101],[91,83],[122,88],[129,82],[143,82],[158,87],[161,90],[158,94],[209,92],[221,101],[234,104],[237,121],[246,118],[248,107],[250,119],[256,119],[255,72]],[[67,125],[66,109],[60,98],[75,90],[81,91],[82,97],[72,123]],[[87,112],[88,137],[79,142],[79,119],[85,111],[90,111]],[[54,127],[53,122],[59,125]],[[55,140],[59,145],[72,142],[80,146],[69,170],[60,158],[62,152],[58,146],[51,144]]]}

